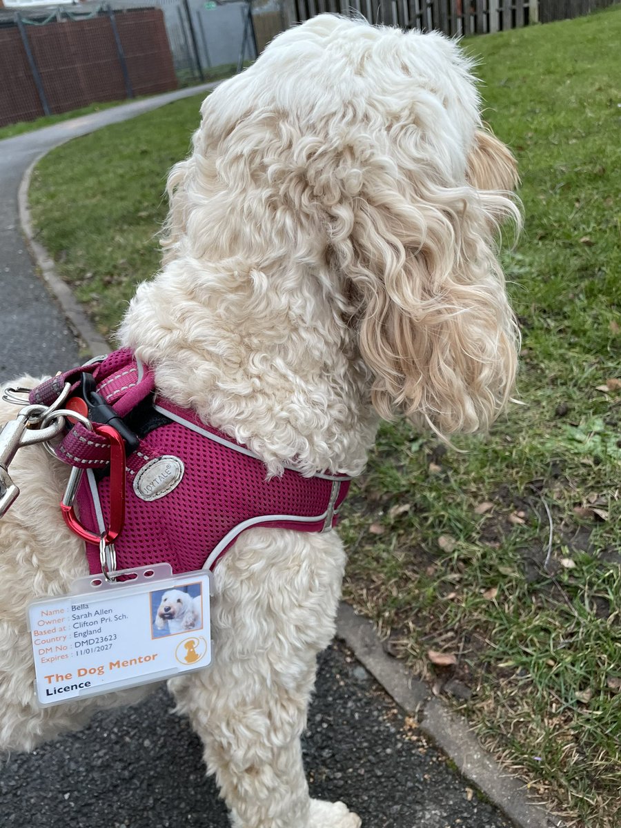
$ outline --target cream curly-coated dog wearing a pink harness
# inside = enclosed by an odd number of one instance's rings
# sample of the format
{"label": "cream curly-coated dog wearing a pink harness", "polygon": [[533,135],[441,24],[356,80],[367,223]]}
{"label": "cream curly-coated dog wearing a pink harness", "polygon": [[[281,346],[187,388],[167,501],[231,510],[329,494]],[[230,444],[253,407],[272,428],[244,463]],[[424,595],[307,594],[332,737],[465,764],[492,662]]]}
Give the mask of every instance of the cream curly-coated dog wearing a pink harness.
{"label": "cream curly-coated dog wearing a pink harness", "polygon": [[[378,418],[397,410],[442,436],[485,429],[516,371],[494,243],[503,219],[519,221],[514,185],[453,41],[315,17],[205,100],[171,171],[163,267],[120,341],[163,395],[270,474],[359,474]],[[28,750],[148,688],[36,706],[26,605],[88,570],[58,508],[67,469],[33,446],[12,476],[0,746]],[[170,689],[236,828],[360,825],[343,803],[310,799],[300,749],[344,562],[335,532],[256,528],[215,569],[214,664]]]}

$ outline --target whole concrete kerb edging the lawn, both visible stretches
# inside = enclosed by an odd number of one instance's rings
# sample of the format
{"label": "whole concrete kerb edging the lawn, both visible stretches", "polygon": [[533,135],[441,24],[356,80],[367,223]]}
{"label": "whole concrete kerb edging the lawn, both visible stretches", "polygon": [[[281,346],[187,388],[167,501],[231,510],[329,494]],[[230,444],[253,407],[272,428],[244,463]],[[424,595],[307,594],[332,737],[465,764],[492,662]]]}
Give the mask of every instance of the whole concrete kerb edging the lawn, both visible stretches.
{"label": "whole concrete kerb edging the lawn, both visible stretches", "polygon": [[[19,220],[28,248],[41,270],[46,286],[59,302],[72,329],[91,356],[107,354],[110,350],[108,343],[95,330],[69,286],[59,277],[50,254],[36,240],[32,225],[28,205],[32,171],[41,158],[53,148],[41,152],[22,178],[17,198]],[[536,802],[532,802],[522,782],[510,776],[481,748],[463,717],[455,715],[440,700],[433,698],[425,682],[418,681],[405,664],[384,652],[373,623],[356,615],[349,604],[340,605],[337,635],[397,705],[408,715],[416,716],[420,722],[421,733],[433,739],[455,762],[460,773],[489,797],[489,800],[518,828],[564,828],[562,821],[549,815]]]}

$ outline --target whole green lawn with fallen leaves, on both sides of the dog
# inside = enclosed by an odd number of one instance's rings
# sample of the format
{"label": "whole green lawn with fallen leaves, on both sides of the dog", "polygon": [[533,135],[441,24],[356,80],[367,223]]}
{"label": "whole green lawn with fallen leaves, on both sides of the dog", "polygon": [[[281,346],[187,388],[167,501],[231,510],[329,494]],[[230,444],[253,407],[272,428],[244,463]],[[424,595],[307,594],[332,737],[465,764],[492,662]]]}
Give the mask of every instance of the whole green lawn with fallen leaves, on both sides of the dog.
{"label": "whole green lawn with fallen leaves, on both sides of the dog", "polygon": [[[486,439],[455,439],[463,453],[384,426],[342,523],[348,599],[436,692],[454,700],[445,682],[458,679],[469,698],[455,704],[487,744],[588,828],[614,828],[621,806],[621,399],[600,390],[621,355],[619,42],[619,7],[465,42],[522,171],[526,229],[505,266],[526,405]],[[156,271],[159,196],[198,105],[80,138],[37,168],[42,241],[103,332]],[[429,651],[456,663],[435,667]]]}

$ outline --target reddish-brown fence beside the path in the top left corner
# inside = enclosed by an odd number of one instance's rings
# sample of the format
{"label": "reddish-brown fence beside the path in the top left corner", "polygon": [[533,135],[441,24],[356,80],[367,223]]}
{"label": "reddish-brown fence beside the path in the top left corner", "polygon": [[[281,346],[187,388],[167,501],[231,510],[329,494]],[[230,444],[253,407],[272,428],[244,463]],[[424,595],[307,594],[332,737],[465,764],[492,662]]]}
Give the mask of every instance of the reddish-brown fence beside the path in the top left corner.
{"label": "reddish-brown fence beside the path in the top left corner", "polygon": [[18,12],[0,18],[0,127],[176,89],[160,9],[52,17],[43,25],[28,25]]}

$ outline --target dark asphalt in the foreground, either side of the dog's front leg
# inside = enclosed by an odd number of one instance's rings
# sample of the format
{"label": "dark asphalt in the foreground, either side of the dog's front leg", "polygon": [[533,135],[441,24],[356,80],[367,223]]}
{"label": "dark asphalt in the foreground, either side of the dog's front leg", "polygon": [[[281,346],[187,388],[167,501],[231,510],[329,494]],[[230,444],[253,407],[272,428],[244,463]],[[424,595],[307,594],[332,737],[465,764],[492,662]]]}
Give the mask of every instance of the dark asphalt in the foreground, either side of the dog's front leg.
{"label": "dark asphalt in the foreground, either side of the dog's front leg", "polygon": [[[3,828],[229,826],[200,741],[171,706],[159,690],[13,756],[0,776]],[[343,800],[363,828],[509,828],[340,644],[320,657],[303,744],[311,796]]]}

